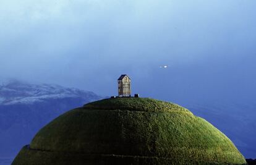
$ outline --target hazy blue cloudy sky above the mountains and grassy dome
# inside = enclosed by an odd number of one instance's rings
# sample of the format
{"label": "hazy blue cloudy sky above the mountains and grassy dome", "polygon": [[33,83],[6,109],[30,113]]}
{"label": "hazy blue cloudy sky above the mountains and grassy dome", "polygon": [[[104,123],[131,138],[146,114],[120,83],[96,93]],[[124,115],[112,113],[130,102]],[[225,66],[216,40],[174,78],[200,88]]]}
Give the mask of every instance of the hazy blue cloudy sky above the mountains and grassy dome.
{"label": "hazy blue cloudy sky above the mountains and grassy dome", "polygon": [[[176,103],[256,92],[254,0],[1,0],[0,78]],[[160,66],[168,66],[160,68]]]}

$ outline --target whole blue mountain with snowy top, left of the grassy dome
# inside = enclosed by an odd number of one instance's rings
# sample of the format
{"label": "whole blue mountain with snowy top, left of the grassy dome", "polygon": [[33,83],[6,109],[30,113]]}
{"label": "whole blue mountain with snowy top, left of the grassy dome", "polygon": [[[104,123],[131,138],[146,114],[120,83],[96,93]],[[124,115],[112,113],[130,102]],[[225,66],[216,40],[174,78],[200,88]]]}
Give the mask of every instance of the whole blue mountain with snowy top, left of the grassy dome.
{"label": "whole blue mountain with snowy top, left of the grassy dome", "polygon": [[91,91],[11,81],[0,85],[0,158],[12,158],[43,125],[69,109],[101,99]]}

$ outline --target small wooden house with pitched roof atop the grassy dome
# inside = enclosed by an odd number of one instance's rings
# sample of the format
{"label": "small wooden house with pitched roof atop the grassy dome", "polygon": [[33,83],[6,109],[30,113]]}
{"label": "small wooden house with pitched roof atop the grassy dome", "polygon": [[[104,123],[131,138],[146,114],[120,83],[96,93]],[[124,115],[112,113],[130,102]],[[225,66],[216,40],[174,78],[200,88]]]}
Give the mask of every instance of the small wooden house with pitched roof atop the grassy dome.
{"label": "small wooden house with pitched roof atop the grassy dome", "polygon": [[130,78],[127,75],[121,75],[118,80],[118,96],[130,97]]}

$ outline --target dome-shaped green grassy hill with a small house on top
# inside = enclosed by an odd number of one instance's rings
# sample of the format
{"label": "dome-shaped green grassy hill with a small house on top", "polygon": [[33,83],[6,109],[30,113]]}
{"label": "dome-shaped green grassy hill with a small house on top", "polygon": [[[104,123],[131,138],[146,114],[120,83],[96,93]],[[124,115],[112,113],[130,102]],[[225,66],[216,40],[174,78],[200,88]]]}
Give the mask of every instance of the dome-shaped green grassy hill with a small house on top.
{"label": "dome-shaped green grassy hill with a small house on top", "polygon": [[177,104],[111,98],[62,114],[12,164],[246,164],[223,133]]}

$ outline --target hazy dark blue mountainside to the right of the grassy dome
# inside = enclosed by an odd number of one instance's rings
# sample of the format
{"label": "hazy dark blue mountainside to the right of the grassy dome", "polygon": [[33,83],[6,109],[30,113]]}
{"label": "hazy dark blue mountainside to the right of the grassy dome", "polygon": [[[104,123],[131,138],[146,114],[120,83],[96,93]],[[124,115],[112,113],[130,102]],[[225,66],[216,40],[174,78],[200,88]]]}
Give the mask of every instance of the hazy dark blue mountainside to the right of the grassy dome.
{"label": "hazy dark blue mountainside to the right of the grassy dome", "polygon": [[218,102],[186,107],[227,135],[245,158],[256,158],[255,103]]}

